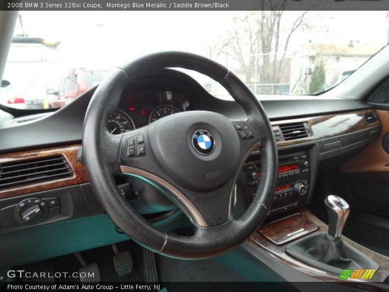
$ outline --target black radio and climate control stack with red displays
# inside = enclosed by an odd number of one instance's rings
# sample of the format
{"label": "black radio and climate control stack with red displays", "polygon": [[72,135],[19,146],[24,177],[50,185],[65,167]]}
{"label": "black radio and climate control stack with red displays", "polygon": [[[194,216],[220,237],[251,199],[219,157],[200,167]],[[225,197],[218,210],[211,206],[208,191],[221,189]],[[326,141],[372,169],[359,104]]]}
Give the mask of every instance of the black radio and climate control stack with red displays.
{"label": "black radio and climate control stack with red displays", "polygon": [[[261,177],[261,160],[253,159],[243,166],[248,194],[255,194]],[[308,151],[279,156],[277,185],[268,216],[302,207],[308,203],[310,190],[310,159]]]}

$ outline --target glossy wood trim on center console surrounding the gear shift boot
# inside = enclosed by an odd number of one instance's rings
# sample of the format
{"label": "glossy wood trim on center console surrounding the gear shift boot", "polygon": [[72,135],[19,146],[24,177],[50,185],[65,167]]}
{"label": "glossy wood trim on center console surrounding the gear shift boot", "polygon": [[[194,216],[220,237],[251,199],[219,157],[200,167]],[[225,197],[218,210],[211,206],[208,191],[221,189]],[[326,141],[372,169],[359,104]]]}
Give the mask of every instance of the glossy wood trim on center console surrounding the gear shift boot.
{"label": "glossy wood trim on center console surrounding the gear shift boot", "polygon": [[[317,226],[318,230],[314,232],[323,232],[328,230],[327,224],[325,224],[323,221],[318,219],[314,214],[312,214],[308,209],[306,208],[301,208],[297,211],[294,211],[294,213],[301,213],[305,215],[308,219],[312,220]],[[284,215],[287,216],[287,215]],[[354,241],[350,240],[347,237],[343,237],[343,240],[350,244],[352,247],[360,251],[361,253],[365,254],[366,256],[369,256],[371,259],[376,261],[380,268],[375,272],[374,276],[371,279],[366,279],[366,280],[339,280],[338,274],[333,274],[330,272],[322,271],[319,270],[318,268],[311,267],[305,263],[302,263],[301,261],[289,256],[285,252],[285,247],[287,244],[277,246],[267,240],[261,233],[258,231],[255,232],[253,235],[251,235],[248,238],[248,242],[255,246],[258,250],[261,252],[265,253],[267,256],[270,256],[271,258],[280,261],[281,263],[287,265],[288,267],[302,273],[306,274],[308,276],[314,277],[318,280],[322,281],[355,281],[355,282],[379,282],[383,281],[386,275],[389,274],[389,257],[379,255],[377,253],[374,253],[373,251],[364,248],[363,246],[355,243]],[[368,269],[369,267],[366,267]],[[376,283],[375,283],[376,284]],[[354,286],[353,286],[354,287]],[[365,286],[362,286],[365,287]],[[366,288],[366,287],[365,287]]]}

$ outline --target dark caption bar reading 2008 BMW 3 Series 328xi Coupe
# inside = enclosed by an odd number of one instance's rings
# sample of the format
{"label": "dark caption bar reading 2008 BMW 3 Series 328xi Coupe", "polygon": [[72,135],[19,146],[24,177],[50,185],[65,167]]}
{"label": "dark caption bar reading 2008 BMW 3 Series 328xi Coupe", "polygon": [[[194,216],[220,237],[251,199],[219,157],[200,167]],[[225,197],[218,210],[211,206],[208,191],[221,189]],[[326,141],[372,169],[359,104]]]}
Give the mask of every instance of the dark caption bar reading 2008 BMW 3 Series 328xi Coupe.
{"label": "dark caption bar reading 2008 BMW 3 Series 328xi Coupe", "polygon": [[389,10],[389,0],[0,0],[0,10],[234,11]]}

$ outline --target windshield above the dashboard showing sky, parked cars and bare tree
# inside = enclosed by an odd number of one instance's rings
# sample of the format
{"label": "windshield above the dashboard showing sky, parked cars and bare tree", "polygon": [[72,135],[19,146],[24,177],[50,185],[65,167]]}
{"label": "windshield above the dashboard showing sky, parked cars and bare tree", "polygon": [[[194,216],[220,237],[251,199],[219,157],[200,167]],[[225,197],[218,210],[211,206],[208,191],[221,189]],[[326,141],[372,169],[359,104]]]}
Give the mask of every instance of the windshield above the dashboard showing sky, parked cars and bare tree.
{"label": "windshield above the dashboard showing sky, parked cars and bare tree", "polygon": [[[319,93],[385,46],[387,27],[384,11],[21,11],[0,103],[60,108],[113,67],[167,50],[216,60],[258,96]],[[193,76],[228,98],[217,83]]]}

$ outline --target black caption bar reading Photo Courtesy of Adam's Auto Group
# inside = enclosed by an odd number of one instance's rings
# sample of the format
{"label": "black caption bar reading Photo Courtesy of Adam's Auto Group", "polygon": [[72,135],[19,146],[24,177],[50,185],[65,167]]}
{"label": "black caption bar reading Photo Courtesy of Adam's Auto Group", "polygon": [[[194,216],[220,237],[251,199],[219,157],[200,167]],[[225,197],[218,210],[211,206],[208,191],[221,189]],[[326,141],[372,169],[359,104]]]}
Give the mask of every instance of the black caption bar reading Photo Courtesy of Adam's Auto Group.
{"label": "black caption bar reading Photo Courtesy of Adam's Auto Group", "polygon": [[348,292],[388,291],[385,283],[339,282],[14,282],[1,283],[1,292]]}

